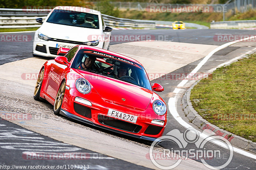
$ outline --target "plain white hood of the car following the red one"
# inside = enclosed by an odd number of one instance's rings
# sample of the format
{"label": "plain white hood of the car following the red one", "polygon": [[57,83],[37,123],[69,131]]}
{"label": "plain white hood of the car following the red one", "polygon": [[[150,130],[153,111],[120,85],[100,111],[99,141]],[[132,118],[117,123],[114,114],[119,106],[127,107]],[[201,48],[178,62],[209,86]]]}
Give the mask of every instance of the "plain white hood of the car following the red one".
{"label": "plain white hood of the car following the red one", "polygon": [[[66,26],[44,22],[40,27],[39,32],[50,38],[88,42],[94,41],[89,35],[100,35],[100,29],[83,28],[77,26]],[[89,40],[88,40],[89,38]]]}

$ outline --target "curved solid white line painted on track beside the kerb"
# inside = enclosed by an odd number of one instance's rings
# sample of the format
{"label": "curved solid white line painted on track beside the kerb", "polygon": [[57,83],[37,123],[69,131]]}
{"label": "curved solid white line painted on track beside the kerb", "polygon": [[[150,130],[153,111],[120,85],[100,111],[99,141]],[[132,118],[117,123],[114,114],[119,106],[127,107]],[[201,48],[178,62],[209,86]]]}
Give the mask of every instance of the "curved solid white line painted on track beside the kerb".
{"label": "curved solid white line painted on track beside the kerb", "polygon": [[[223,49],[223,48],[226,48],[226,47],[228,47],[228,46],[230,46],[230,45],[232,45],[232,44],[235,44],[235,43],[237,43],[237,42],[246,41],[246,40],[249,40],[249,39],[252,39],[252,38],[256,38],[256,36],[248,37],[248,38],[241,39],[241,40],[238,40],[238,41],[228,42],[228,43],[226,43],[226,44],[221,45],[220,47],[215,48],[215,49],[212,50],[208,55],[206,55],[206,56],[204,57],[204,59],[196,66],[196,68],[195,68],[194,70],[191,71],[190,74],[188,74],[188,76],[186,77],[186,79],[189,79],[189,75],[191,75],[191,74],[193,74],[193,73],[196,73],[196,72],[208,61],[208,59],[209,59],[215,52],[217,52],[217,51],[219,51],[219,50],[221,50],[221,49]],[[254,48],[254,49],[255,49],[255,48]],[[240,56],[241,56],[241,55],[240,55]],[[240,56],[239,56],[239,57],[240,57]],[[237,57],[236,57],[236,58],[237,58]],[[175,88],[173,92],[176,93],[176,94],[178,94],[178,93],[180,92],[180,90],[182,90],[182,89],[180,89],[179,87],[184,86],[187,82],[188,82],[188,80],[182,80],[182,81],[179,83],[179,85],[177,85],[177,88]],[[178,113],[178,111],[177,111],[177,107],[176,107],[176,106],[177,106],[177,105],[176,105],[177,100],[178,100],[178,99],[177,99],[177,95],[174,95],[173,97],[170,97],[170,99],[169,99],[169,101],[168,101],[168,108],[169,108],[169,110],[170,110],[170,113],[172,114],[172,116],[174,117],[174,119],[175,119],[177,122],[179,122],[183,127],[187,128],[187,129],[188,129],[188,128],[193,128],[191,125],[189,125],[187,122],[185,122],[185,121],[180,117],[180,115],[179,115],[179,113]],[[197,131],[198,131],[198,130],[197,130]],[[201,132],[198,131],[198,133],[201,133]],[[207,136],[207,135],[202,135],[202,137],[203,137],[203,138],[207,138],[208,136]],[[209,137],[208,137],[208,138],[209,138]],[[224,145],[220,145],[219,143],[216,143],[216,142],[214,142],[214,141],[212,141],[212,143],[217,144],[217,145],[219,145],[219,146],[221,146],[221,147],[227,148],[227,147],[225,147]],[[252,158],[252,159],[256,159],[256,155],[253,155],[253,154],[248,153],[248,152],[246,152],[246,151],[243,151],[243,150],[241,150],[241,149],[238,149],[238,148],[233,147],[233,150],[234,150],[234,152],[237,152],[237,153],[242,154],[242,155],[244,155],[244,156],[250,157],[250,158]]]}

